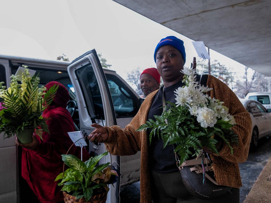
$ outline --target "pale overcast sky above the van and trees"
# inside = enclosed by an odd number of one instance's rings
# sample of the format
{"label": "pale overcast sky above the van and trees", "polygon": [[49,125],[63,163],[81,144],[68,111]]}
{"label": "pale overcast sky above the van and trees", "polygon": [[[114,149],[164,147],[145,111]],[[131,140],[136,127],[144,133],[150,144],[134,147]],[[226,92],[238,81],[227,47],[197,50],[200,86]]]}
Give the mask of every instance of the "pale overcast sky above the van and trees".
{"label": "pale overcast sky above the van and trees", "polygon": [[[154,49],[169,35],[184,41],[186,66],[197,57],[192,40],[111,0],[1,1],[0,54],[72,61],[96,49],[123,78],[137,67],[156,67]],[[215,51],[234,72],[244,66]]]}

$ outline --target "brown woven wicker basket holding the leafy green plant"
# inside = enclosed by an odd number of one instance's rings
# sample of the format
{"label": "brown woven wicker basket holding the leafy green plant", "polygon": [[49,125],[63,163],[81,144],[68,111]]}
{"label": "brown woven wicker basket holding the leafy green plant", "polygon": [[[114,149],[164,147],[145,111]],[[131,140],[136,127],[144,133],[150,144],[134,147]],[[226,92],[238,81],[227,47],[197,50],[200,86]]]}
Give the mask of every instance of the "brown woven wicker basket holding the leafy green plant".
{"label": "brown woven wicker basket holding the leafy green plant", "polygon": [[66,192],[63,192],[64,195],[64,202],[65,203],[73,203],[73,202],[80,202],[80,203],[105,203],[107,199],[107,192],[102,192],[98,195],[93,195],[88,202],[86,202],[85,198],[82,199],[75,199],[75,196],[69,195]]}

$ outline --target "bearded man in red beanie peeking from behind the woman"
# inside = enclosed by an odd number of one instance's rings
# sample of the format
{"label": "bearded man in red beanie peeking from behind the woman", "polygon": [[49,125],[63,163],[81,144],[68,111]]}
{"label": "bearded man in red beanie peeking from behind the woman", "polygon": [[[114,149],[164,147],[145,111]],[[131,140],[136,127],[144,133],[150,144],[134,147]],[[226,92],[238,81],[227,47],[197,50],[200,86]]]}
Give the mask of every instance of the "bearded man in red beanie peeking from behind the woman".
{"label": "bearded man in red beanie peeking from behind the woman", "polygon": [[159,86],[160,74],[156,68],[147,68],[141,73],[140,87],[143,92],[143,97],[147,97],[148,94],[159,89]]}

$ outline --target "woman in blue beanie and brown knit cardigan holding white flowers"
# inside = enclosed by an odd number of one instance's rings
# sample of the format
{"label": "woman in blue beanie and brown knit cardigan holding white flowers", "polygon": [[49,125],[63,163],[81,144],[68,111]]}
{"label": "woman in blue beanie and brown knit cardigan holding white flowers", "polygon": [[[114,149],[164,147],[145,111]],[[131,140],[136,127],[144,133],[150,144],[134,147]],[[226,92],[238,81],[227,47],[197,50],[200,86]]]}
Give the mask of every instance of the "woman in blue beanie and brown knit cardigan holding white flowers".
{"label": "woman in blue beanie and brown knit cardigan holding white flowers", "polygon": [[[239,137],[239,145],[234,147],[231,154],[227,144],[222,140],[216,144],[219,155],[211,154],[215,179],[219,185],[232,187],[222,197],[216,199],[198,199],[187,191],[182,183],[182,177],[176,166],[175,154],[172,146],[163,148],[163,140],[153,137],[149,143],[150,129],[147,132],[137,132],[136,129],[154,115],[161,115],[163,108],[163,94],[165,100],[175,103],[175,89],[183,86],[183,65],[186,61],[183,41],[169,36],[160,40],[154,51],[154,61],[161,75],[164,86],[150,93],[133,120],[124,128],[119,126],[100,126],[93,124],[96,129],[88,136],[93,142],[105,142],[114,155],[133,155],[141,151],[140,168],[140,202],[141,203],[176,203],[176,202],[239,202],[239,188],[242,186],[239,162],[247,159],[250,142],[251,119],[237,96],[226,84],[211,75],[204,75],[201,84],[213,88],[209,96],[224,101],[229,113],[237,123],[233,130]],[[199,81],[199,77],[197,76]],[[209,153],[209,152],[208,152]],[[204,187],[204,185],[202,185]]]}

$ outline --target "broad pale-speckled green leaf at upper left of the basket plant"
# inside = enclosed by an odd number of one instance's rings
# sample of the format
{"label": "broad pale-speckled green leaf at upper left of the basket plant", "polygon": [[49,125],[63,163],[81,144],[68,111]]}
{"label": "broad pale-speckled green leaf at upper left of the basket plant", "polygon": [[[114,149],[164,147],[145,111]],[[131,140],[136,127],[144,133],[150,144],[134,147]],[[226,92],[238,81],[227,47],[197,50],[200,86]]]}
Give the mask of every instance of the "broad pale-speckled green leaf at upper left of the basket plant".
{"label": "broad pale-speckled green leaf at upper left of the basket plant", "polygon": [[83,173],[87,170],[85,163],[78,159],[76,156],[66,154],[63,154],[61,156],[62,161],[64,161],[64,163],[71,169],[79,171],[80,173]]}

